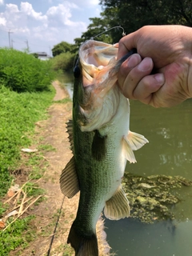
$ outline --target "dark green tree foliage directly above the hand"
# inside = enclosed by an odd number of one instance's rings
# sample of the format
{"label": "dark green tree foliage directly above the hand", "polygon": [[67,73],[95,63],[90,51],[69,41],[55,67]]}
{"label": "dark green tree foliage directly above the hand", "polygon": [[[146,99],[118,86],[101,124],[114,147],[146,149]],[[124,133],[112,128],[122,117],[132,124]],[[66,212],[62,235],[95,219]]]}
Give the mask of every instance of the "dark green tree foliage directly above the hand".
{"label": "dark green tree foliage directly above the hand", "polygon": [[[146,25],[192,26],[190,0],[101,0],[100,4],[109,26],[121,25],[126,34]],[[116,31],[111,30],[111,37],[118,42]]]}

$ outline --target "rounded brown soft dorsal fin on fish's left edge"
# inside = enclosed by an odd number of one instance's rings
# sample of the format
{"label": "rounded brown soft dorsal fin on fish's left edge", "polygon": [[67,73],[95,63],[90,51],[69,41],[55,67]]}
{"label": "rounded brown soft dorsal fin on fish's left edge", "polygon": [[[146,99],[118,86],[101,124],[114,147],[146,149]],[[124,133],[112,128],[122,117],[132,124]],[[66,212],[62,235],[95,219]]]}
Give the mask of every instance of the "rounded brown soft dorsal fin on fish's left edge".
{"label": "rounded brown soft dorsal fin on fish's left edge", "polygon": [[79,191],[78,175],[75,170],[74,157],[70,159],[60,177],[60,187],[62,194],[67,198],[73,198]]}

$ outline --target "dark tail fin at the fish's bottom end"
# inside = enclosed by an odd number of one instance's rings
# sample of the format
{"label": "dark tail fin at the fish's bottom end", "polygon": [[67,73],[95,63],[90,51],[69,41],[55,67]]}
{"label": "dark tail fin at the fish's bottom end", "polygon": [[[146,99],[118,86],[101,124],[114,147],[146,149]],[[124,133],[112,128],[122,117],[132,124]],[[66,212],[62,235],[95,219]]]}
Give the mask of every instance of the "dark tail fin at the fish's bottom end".
{"label": "dark tail fin at the fish's bottom end", "polygon": [[74,223],[70,228],[67,243],[75,250],[75,256],[98,256],[98,239],[96,234],[78,234]]}

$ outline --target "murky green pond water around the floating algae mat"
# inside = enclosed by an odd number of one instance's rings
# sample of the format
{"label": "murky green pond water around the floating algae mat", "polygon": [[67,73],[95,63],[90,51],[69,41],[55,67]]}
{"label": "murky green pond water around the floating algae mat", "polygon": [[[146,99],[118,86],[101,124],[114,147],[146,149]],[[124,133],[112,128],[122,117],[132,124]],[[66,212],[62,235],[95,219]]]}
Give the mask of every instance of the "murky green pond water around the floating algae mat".
{"label": "murky green pond water around the floating algae mat", "polygon": [[[72,82],[68,82],[71,86]],[[130,101],[130,130],[150,143],[134,151],[137,163],[126,172],[143,176],[180,175],[192,180],[192,100],[169,109],[154,109]],[[175,220],[146,224],[134,218],[106,219],[107,241],[118,256],[191,256],[192,186],[177,190]]]}

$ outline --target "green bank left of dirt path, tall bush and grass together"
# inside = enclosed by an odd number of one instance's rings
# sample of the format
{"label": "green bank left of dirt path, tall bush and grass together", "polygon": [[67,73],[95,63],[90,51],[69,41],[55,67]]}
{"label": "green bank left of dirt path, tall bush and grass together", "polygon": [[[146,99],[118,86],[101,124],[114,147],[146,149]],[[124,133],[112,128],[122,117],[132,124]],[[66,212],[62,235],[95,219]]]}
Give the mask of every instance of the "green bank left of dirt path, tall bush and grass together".
{"label": "green bank left of dirt path, tall bush and grass together", "polygon": [[[17,50],[0,49],[0,219],[7,207],[2,198],[20,164],[21,150],[30,147],[35,122],[47,117],[54,98],[53,79],[49,62]],[[42,193],[33,189],[29,182],[23,191]],[[30,242],[33,234],[27,232],[27,226],[31,218],[17,219],[5,231],[0,230],[0,255],[9,255],[10,250]]]}

